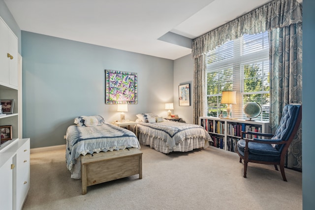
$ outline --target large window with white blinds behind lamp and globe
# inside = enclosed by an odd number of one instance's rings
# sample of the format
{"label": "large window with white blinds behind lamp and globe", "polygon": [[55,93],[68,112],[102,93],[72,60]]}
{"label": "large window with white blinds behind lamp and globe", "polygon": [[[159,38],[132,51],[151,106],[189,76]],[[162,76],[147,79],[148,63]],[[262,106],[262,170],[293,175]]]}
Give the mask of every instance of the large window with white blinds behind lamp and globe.
{"label": "large window with white blinds behind lamp and globe", "polygon": [[207,115],[217,117],[226,104],[221,104],[222,91],[236,91],[232,117],[247,119],[243,107],[257,102],[262,114],[256,120],[269,120],[269,46],[268,32],[228,41],[207,53]]}

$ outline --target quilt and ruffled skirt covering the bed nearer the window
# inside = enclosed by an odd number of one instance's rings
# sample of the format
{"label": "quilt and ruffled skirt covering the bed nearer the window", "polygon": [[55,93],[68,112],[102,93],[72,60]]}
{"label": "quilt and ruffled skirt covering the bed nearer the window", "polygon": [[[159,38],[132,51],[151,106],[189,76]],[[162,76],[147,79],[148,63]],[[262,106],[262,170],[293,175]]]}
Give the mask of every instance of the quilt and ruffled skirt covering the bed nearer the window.
{"label": "quilt and ruffled skirt covering the bed nearer the window", "polygon": [[207,148],[212,141],[209,133],[200,125],[164,120],[162,122],[137,123],[138,139],[157,151],[190,151]]}

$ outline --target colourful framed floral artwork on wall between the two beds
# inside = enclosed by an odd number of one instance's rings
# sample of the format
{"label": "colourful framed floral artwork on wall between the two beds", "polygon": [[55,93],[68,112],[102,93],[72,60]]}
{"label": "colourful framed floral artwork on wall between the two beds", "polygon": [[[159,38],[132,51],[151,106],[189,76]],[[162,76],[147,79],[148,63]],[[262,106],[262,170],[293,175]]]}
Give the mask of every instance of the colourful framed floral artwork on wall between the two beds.
{"label": "colourful framed floral artwork on wall between the two beds", "polygon": [[105,70],[105,104],[137,104],[138,73]]}

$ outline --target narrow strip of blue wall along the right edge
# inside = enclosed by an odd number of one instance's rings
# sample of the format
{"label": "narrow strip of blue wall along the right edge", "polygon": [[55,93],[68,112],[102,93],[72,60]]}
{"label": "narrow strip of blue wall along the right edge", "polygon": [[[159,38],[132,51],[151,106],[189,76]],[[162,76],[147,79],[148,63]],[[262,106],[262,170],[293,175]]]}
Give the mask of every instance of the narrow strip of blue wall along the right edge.
{"label": "narrow strip of blue wall along the right edge", "polygon": [[303,112],[302,189],[303,210],[315,208],[315,1],[303,0]]}

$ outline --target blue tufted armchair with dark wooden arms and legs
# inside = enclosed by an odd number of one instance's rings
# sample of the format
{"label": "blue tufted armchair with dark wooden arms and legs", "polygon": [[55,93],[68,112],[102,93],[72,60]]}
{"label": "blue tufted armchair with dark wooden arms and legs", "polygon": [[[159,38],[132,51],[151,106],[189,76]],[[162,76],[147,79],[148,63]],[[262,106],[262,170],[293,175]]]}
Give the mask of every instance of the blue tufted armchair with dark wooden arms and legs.
{"label": "blue tufted armchair with dark wooden arms and legs", "polygon": [[[237,142],[240,163],[244,160],[244,177],[248,162],[272,164],[286,181],[284,174],[284,159],[286,151],[291,144],[302,119],[302,105],[288,104],[284,106],[282,118],[275,134],[261,134],[252,131],[242,131],[241,140]],[[253,134],[271,139],[244,139],[245,134]]]}

